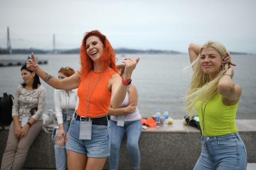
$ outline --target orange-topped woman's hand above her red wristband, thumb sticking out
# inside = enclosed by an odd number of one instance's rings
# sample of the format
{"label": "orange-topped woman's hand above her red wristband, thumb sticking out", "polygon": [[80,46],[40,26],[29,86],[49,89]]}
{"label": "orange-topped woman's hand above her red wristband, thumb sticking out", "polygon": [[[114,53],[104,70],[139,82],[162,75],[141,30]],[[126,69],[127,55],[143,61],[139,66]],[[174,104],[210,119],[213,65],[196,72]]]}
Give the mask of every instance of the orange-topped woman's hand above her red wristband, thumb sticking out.
{"label": "orange-topped woman's hand above her red wristband, thumb sticking out", "polygon": [[138,57],[136,60],[132,58],[124,58],[124,61],[122,61],[125,64],[124,79],[126,81],[131,79],[131,74],[136,68],[136,65],[139,61],[140,61],[140,57]]}

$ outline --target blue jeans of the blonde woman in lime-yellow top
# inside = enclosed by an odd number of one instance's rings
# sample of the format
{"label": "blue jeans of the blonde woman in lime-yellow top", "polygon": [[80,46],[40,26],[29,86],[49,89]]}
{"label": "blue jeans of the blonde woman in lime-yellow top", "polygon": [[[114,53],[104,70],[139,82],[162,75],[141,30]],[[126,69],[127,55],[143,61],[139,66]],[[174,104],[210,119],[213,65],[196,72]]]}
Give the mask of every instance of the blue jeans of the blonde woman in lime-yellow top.
{"label": "blue jeans of the blonde woman in lime-yellow top", "polygon": [[201,144],[194,170],[246,170],[247,152],[239,133],[202,136]]}

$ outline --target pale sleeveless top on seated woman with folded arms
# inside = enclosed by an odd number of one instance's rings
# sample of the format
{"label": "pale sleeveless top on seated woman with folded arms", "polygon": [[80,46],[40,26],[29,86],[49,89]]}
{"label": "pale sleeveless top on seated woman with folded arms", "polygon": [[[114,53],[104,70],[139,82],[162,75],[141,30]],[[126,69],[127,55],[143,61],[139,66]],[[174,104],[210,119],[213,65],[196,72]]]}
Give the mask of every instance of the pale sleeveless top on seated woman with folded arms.
{"label": "pale sleeveless top on seated woman with folded arms", "polygon": [[[122,102],[122,104],[120,105],[119,108],[125,108],[128,105],[129,105],[129,93],[127,91],[125,99],[124,99],[124,101]],[[117,122],[117,116],[110,116],[110,119]],[[138,107],[136,107],[136,110],[134,111],[134,113],[130,113],[130,114],[125,116],[125,122],[135,121],[135,120],[140,120],[140,119],[141,119],[141,115],[140,115]]]}

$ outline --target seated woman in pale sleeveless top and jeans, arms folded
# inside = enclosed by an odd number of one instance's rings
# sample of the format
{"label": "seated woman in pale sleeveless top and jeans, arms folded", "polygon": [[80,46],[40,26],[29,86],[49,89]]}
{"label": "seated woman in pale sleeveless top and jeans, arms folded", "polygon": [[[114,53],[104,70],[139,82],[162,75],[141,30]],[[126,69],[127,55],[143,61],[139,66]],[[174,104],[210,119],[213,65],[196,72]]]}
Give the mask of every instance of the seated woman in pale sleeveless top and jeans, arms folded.
{"label": "seated woman in pale sleeveless top and jeans, arms folded", "polygon": [[[117,65],[119,75],[123,77],[125,65]],[[109,156],[110,170],[118,169],[119,149],[122,137],[126,133],[127,149],[134,170],[140,169],[139,139],[142,129],[141,115],[137,108],[138,92],[135,85],[130,84],[124,101],[119,108],[108,109],[111,115],[111,150]]]}

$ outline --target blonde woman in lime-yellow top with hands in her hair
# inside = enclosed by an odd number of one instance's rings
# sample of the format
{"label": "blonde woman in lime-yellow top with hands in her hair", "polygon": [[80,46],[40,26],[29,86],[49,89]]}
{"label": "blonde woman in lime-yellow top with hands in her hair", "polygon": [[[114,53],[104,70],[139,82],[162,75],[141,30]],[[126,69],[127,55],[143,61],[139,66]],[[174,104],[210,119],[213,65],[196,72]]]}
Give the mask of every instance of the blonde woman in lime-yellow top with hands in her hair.
{"label": "blonde woman in lime-yellow top with hands in her hair", "polygon": [[[220,42],[190,44],[193,76],[186,111],[199,116],[202,151],[194,170],[246,170],[247,153],[235,118],[241,86],[233,82],[230,54]],[[196,113],[197,112],[197,113]]]}

